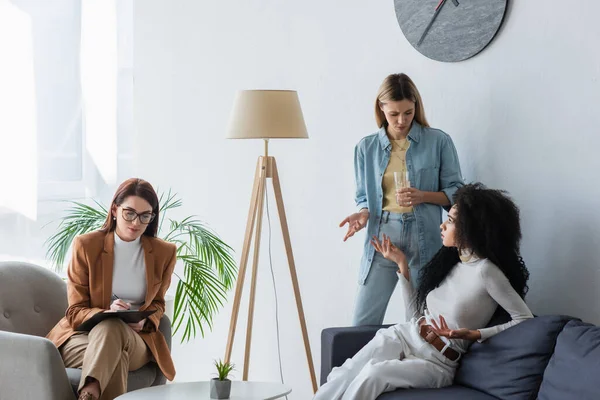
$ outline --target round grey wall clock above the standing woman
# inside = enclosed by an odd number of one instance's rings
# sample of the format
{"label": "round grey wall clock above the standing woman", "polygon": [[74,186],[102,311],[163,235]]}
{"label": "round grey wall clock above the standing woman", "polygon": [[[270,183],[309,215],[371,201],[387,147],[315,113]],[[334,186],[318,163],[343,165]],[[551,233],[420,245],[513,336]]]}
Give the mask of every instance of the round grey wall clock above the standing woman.
{"label": "round grey wall clock above the standing woman", "polygon": [[508,0],[394,0],[402,33],[421,54],[455,62],[483,50],[498,32]]}

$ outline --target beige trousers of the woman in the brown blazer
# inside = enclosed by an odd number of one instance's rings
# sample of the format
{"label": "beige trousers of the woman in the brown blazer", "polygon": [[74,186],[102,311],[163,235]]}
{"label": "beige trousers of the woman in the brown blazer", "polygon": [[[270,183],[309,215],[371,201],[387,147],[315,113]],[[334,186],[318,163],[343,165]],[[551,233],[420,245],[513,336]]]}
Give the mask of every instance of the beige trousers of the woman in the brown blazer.
{"label": "beige trousers of the woman in the brown blazer", "polygon": [[88,377],[100,383],[100,399],[127,392],[127,375],[150,361],[146,343],[118,318],[100,322],[89,333],[78,332],[60,346],[67,368],[81,368],[79,390]]}

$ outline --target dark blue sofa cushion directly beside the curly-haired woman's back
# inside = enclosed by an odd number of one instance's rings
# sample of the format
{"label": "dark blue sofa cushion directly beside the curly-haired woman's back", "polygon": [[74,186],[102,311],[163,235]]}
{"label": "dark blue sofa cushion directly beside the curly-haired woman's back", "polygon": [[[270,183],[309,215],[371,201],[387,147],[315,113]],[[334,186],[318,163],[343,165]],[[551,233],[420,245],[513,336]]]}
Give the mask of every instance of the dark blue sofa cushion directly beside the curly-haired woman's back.
{"label": "dark blue sofa cushion directly beside the curly-haired woman's back", "polygon": [[548,315],[524,321],[475,342],[454,383],[506,400],[530,399],[539,390],[556,338],[572,317]]}

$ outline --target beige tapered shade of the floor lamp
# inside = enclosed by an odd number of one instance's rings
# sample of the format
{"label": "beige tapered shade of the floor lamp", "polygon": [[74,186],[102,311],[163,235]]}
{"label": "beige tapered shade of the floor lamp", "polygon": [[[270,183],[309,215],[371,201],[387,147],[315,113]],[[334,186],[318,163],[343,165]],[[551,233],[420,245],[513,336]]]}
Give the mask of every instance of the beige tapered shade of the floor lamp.
{"label": "beige tapered shade of the floor lamp", "polygon": [[307,139],[298,93],[242,90],[237,93],[227,139]]}

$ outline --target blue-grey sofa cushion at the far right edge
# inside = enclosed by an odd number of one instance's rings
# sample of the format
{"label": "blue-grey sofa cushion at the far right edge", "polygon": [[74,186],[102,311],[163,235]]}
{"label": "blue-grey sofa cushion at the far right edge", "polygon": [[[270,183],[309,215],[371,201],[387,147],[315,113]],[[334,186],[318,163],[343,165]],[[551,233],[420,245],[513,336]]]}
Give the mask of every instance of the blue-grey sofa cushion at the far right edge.
{"label": "blue-grey sofa cushion at the far right edge", "polygon": [[600,398],[600,327],[570,321],[544,371],[540,400]]}

